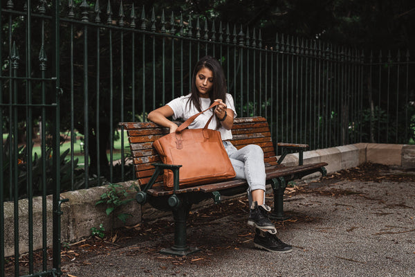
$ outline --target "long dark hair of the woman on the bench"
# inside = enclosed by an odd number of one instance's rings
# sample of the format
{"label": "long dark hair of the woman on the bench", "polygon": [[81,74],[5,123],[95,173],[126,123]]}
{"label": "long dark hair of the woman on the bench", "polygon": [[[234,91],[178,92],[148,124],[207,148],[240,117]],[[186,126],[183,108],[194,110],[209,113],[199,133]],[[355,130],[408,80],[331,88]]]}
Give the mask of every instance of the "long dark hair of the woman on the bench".
{"label": "long dark hair of the woman on the bench", "polygon": [[192,75],[192,87],[190,89],[190,92],[192,94],[189,98],[189,102],[187,102],[187,104],[190,104],[190,102],[192,102],[194,107],[196,107],[198,111],[202,111],[202,109],[199,90],[196,87],[196,75],[204,67],[210,69],[213,75],[213,86],[212,90],[209,92],[210,103],[212,104],[215,99],[222,99],[224,103],[226,102],[227,89],[225,74],[223,73],[222,66],[221,64],[219,64],[219,61],[216,60],[214,57],[205,56],[202,57],[201,60],[199,60],[199,62],[197,62],[196,66],[194,66]]}

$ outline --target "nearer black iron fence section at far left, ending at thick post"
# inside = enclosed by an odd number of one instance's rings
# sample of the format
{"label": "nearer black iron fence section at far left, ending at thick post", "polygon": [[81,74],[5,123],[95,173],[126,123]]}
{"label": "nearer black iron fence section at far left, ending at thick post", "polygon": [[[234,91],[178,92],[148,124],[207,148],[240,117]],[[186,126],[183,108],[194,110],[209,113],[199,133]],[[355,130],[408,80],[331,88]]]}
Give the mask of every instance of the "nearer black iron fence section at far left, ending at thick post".
{"label": "nearer black iron fence section at far left, ending at thick post", "polygon": [[[48,15],[46,1],[38,6],[27,1],[20,9],[13,1],[1,1],[0,17],[0,276],[60,275],[60,204],[65,200],[59,197],[59,1],[50,3]],[[38,116],[41,157],[33,153],[33,118]],[[42,203],[37,238],[35,195]],[[36,267],[35,240],[42,247]],[[22,252],[28,253],[25,258]]]}

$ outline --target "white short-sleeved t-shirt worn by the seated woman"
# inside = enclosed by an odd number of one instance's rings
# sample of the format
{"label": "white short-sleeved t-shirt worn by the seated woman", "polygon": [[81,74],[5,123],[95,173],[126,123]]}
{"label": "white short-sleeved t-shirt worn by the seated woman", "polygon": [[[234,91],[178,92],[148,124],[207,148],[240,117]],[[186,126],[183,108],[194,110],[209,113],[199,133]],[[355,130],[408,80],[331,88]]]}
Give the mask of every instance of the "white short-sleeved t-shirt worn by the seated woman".
{"label": "white short-sleeved t-shirt worn by the seated woman", "polygon": [[[192,102],[190,102],[190,105],[187,105],[187,101],[189,100],[189,98],[190,98],[190,94],[187,94],[187,96],[181,96],[167,103],[167,105],[171,107],[174,111],[173,120],[176,120],[177,118],[187,120],[191,116],[194,116],[194,114],[199,113],[199,111],[196,109],[196,107],[194,107]],[[202,111],[210,107],[210,98],[199,98],[199,99],[201,100]],[[228,109],[232,109],[232,111],[234,112],[234,118],[236,118],[237,112],[235,111],[234,101],[230,93],[226,93],[226,107]],[[189,129],[200,129],[200,128],[205,127],[206,123],[208,122],[212,114],[213,114],[212,110],[205,111],[203,114],[198,116],[192,122],[192,124],[189,125]],[[217,124],[216,120],[217,118],[216,116],[214,116],[208,126],[209,129],[216,129],[216,124]],[[221,137],[223,141],[227,139],[232,139],[232,132],[228,129],[225,129],[222,125],[220,125],[218,131],[221,132]]]}

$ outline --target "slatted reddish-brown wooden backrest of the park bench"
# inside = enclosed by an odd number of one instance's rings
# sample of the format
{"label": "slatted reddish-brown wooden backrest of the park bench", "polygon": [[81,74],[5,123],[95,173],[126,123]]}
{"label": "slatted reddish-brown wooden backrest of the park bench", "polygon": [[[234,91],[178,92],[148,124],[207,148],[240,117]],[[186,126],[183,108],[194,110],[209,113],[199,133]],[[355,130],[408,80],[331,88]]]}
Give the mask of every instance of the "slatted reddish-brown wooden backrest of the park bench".
{"label": "slatted reddish-brown wooden backrest of the park bench", "polygon": [[[133,157],[134,170],[140,185],[145,185],[154,172],[152,163],[160,163],[160,157],[153,148],[156,139],[169,133],[168,128],[160,127],[154,123],[120,123],[127,130],[129,145]],[[264,117],[235,118],[232,127],[232,144],[240,149],[249,144],[257,144],[264,150],[266,166],[276,166],[277,157],[270,128]],[[154,186],[160,186],[163,177],[160,176]]]}

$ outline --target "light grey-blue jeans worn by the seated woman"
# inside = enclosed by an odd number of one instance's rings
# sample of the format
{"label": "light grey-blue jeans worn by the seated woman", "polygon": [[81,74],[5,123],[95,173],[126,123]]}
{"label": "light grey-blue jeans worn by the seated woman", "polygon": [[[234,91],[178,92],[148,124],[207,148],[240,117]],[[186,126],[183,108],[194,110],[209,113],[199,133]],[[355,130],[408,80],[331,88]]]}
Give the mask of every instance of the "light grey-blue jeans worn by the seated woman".
{"label": "light grey-blue jeans worn by the seated woman", "polygon": [[223,145],[237,173],[235,179],[246,179],[248,181],[248,199],[251,203],[252,196],[250,192],[252,190],[264,190],[265,192],[264,152],[260,146],[254,144],[246,145],[239,150],[230,141],[223,141]]}

